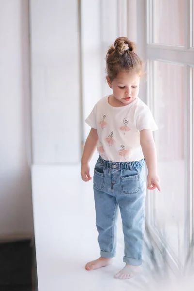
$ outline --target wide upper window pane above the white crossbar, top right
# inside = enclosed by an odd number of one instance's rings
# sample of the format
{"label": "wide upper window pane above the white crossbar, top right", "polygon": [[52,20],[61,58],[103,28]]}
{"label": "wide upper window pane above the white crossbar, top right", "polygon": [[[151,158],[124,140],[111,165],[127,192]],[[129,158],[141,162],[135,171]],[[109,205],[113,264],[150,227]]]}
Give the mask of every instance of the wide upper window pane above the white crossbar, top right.
{"label": "wide upper window pane above the white crossbar, top right", "polygon": [[153,0],[152,15],[153,43],[184,46],[183,0]]}

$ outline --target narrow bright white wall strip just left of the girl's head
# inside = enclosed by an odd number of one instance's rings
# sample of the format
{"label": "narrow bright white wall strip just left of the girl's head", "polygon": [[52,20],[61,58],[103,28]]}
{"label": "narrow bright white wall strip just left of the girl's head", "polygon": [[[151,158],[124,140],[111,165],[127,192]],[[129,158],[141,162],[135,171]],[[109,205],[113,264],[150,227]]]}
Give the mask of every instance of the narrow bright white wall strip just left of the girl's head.
{"label": "narrow bright white wall strip just left of the girl's head", "polygon": [[81,1],[81,59],[82,59],[82,104],[84,140],[90,127],[85,119],[90,114],[97,101],[103,97],[100,31],[100,0]]}

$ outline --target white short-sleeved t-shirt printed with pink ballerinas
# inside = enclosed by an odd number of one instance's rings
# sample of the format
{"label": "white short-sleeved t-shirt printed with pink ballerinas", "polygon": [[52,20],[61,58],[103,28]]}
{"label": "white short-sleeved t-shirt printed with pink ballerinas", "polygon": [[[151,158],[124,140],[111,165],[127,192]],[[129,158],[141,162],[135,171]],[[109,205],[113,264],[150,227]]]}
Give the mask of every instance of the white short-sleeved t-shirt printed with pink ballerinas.
{"label": "white short-sleeved t-shirt printed with pink ballerinas", "polygon": [[138,97],[130,104],[113,107],[106,96],[100,99],[85,122],[97,129],[100,156],[112,162],[132,162],[144,158],[140,131],[158,129],[149,107]]}

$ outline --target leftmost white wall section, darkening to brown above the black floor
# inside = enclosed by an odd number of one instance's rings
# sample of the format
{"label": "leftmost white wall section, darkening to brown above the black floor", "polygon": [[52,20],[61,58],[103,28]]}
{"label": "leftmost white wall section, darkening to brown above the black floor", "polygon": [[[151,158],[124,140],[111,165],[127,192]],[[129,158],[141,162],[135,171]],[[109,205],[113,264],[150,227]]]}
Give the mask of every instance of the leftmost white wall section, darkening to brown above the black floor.
{"label": "leftmost white wall section, darkening to brown above the black floor", "polygon": [[0,237],[33,233],[28,2],[0,0]]}

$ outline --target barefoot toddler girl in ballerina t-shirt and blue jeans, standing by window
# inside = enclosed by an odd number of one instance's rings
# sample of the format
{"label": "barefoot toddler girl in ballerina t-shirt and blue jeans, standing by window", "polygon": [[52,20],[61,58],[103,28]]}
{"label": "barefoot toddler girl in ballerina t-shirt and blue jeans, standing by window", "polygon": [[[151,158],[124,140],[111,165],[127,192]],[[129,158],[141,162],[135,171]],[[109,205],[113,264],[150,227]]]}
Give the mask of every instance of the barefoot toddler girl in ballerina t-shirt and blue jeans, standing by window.
{"label": "barefoot toddler girl in ballerina t-shirt and blue jeans, standing by window", "polygon": [[[160,191],[152,131],[157,129],[148,106],[138,98],[142,61],[135,44],[119,37],[106,55],[107,82],[113,94],[100,99],[86,119],[91,127],[81,160],[83,181],[91,180],[89,162],[97,147],[94,169],[99,259],[86,270],[109,265],[116,250],[116,220],[120,208],[125,267],[114,277],[129,279],[140,270],[147,188]],[[146,165],[145,165],[146,160]]]}

